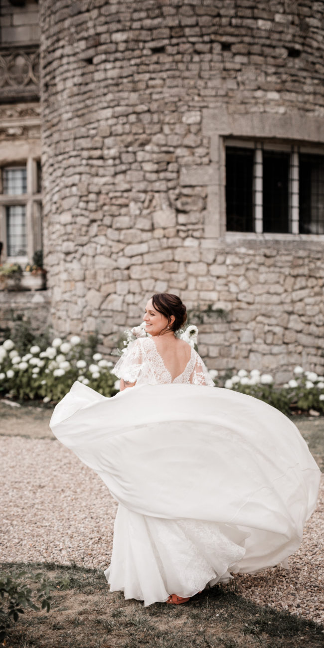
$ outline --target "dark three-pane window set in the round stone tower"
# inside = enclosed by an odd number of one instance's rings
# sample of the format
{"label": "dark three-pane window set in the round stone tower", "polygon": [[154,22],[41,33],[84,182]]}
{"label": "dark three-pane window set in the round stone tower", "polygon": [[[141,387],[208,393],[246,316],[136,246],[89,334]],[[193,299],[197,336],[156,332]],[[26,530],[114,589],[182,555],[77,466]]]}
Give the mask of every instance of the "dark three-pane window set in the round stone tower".
{"label": "dark three-pane window set in the round stone tower", "polygon": [[226,146],[227,231],[324,234],[324,156],[296,146]]}

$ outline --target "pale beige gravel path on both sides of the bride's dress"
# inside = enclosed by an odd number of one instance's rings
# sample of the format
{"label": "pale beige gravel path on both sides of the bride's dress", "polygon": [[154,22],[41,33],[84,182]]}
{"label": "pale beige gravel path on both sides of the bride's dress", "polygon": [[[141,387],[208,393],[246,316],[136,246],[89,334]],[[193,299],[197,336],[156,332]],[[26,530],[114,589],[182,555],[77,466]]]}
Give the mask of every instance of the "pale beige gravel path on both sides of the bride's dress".
{"label": "pale beige gravel path on both sides of the bride's dress", "polygon": [[[1,420],[1,561],[106,568],[117,503],[97,474],[52,437],[44,421],[50,415],[34,414],[40,419],[37,438],[21,436],[32,429],[21,412]],[[238,575],[238,592],[256,603],[324,623],[323,513],[324,476],[318,508],[305,527],[301,548],[289,559],[290,568]]]}

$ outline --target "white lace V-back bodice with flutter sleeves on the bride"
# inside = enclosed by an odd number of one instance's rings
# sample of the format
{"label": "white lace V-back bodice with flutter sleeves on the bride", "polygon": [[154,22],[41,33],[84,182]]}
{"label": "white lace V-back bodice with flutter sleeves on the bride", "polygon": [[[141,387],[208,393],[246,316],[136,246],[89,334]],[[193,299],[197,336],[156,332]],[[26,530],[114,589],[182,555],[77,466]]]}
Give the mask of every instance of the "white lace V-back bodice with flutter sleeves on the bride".
{"label": "white lace V-back bodice with flutter sleeves on the bride", "polygon": [[202,358],[191,348],[191,356],[185,369],[172,380],[152,338],[139,338],[125,349],[112,372],[125,382],[136,385],[192,384],[214,387]]}

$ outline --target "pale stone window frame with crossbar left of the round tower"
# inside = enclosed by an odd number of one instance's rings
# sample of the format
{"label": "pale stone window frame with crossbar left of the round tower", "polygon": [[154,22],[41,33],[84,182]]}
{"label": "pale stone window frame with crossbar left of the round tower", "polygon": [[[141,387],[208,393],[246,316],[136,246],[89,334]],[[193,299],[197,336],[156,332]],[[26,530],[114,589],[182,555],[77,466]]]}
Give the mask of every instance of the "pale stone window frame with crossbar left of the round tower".
{"label": "pale stone window frame with crossbar left of the round tower", "polygon": [[[3,242],[1,262],[26,264],[32,261],[36,250],[42,248],[41,227],[41,192],[38,191],[39,165],[41,160],[40,143],[29,144],[14,141],[0,145],[0,240]],[[27,193],[21,195],[3,194],[3,168],[26,167]],[[10,205],[25,205],[27,253],[21,256],[8,256],[6,233],[6,207]]]}

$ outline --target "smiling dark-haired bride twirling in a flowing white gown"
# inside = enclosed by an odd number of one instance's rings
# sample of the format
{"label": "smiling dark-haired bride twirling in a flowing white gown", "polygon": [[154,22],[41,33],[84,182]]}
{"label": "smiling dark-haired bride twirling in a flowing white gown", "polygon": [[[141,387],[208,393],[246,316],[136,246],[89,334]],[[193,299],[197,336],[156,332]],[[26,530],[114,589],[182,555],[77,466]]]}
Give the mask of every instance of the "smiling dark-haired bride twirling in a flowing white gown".
{"label": "smiling dark-haired bride twirling in a flowing white gown", "polygon": [[107,399],[75,382],[50,425],[119,502],[110,590],[178,604],[232,573],[285,564],[316,507],[320,472],[279,410],[214,388],[175,336],[187,319],[179,297],[153,295],[143,319],[150,336],[113,369],[120,393]]}

